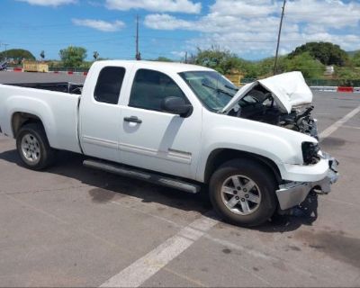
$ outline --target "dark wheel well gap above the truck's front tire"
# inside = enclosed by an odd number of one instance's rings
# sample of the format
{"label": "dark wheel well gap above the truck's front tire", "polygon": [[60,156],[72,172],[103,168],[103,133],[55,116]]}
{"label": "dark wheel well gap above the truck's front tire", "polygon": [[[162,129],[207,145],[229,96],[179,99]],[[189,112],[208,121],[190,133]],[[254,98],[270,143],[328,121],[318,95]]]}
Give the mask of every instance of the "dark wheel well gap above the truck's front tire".
{"label": "dark wheel well gap above the truck's front tire", "polygon": [[205,168],[205,183],[209,183],[212,173],[215,172],[215,170],[219,166],[234,158],[247,158],[256,160],[270,170],[270,172],[274,175],[277,184],[280,184],[282,182],[280,170],[273,160],[246,151],[239,151],[229,148],[219,148],[212,151],[210,156],[208,157]]}

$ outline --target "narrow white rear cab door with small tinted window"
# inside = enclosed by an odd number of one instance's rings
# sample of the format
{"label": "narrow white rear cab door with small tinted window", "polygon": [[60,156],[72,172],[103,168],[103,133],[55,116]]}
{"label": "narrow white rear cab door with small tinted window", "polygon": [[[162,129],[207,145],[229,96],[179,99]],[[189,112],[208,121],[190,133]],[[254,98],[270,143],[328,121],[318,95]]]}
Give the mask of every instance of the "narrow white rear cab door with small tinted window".
{"label": "narrow white rear cab door with small tinted window", "polygon": [[121,108],[118,103],[129,67],[95,68],[99,71],[92,72],[94,79],[86,79],[80,102],[81,146],[85,155],[119,161]]}

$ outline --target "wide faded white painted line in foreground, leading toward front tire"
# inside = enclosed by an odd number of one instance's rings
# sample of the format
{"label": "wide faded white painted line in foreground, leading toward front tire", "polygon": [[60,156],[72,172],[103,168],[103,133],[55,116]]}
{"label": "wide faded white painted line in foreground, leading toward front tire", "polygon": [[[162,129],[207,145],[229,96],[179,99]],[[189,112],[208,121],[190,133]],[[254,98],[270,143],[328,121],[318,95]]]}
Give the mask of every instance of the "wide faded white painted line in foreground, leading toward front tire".
{"label": "wide faded white painted line in foreground, leading toward front tire", "polygon": [[196,240],[218,222],[218,220],[203,215],[147,255],[123,269],[119,274],[114,275],[100,287],[139,287],[175,257],[183,253],[184,250],[192,246]]}

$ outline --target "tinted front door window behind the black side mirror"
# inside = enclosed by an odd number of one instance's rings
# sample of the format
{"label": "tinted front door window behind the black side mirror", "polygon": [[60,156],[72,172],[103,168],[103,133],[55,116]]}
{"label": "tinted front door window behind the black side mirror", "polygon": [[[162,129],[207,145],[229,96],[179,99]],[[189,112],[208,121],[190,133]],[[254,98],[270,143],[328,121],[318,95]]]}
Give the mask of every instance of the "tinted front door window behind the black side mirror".
{"label": "tinted front door window behind the black side mirror", "polygon": [[158,71],[139,69],[132,84],[129,106],[161,111],[161,102],[171,96],[188,102],[172,78]]}

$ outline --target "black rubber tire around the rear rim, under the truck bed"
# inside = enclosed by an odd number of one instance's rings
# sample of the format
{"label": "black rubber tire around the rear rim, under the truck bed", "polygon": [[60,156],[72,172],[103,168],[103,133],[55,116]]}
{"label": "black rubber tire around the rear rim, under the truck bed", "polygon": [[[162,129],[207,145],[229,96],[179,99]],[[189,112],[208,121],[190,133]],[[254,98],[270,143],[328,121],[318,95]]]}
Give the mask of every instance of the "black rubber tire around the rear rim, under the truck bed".
{"label": "black rubber tire around the rear rim, under the truck bed", "polygon": [[[32,147],[33,149],[35,147],[37,148],[37,153],[35,154],[38,157],[36,157],[36,160],[31,160],[25,156],[22,148],[22,142],[25,140],[25,137],[30,137],[36,143],[36,145],[33,145]],[[55,150],[50,148],[45,130],[40,123],[29,123],[23,125],[16,136],[16,148],[20,158],[22,159],[23,165],[32,170],[44,169],[51,165],[54,161]]]}

